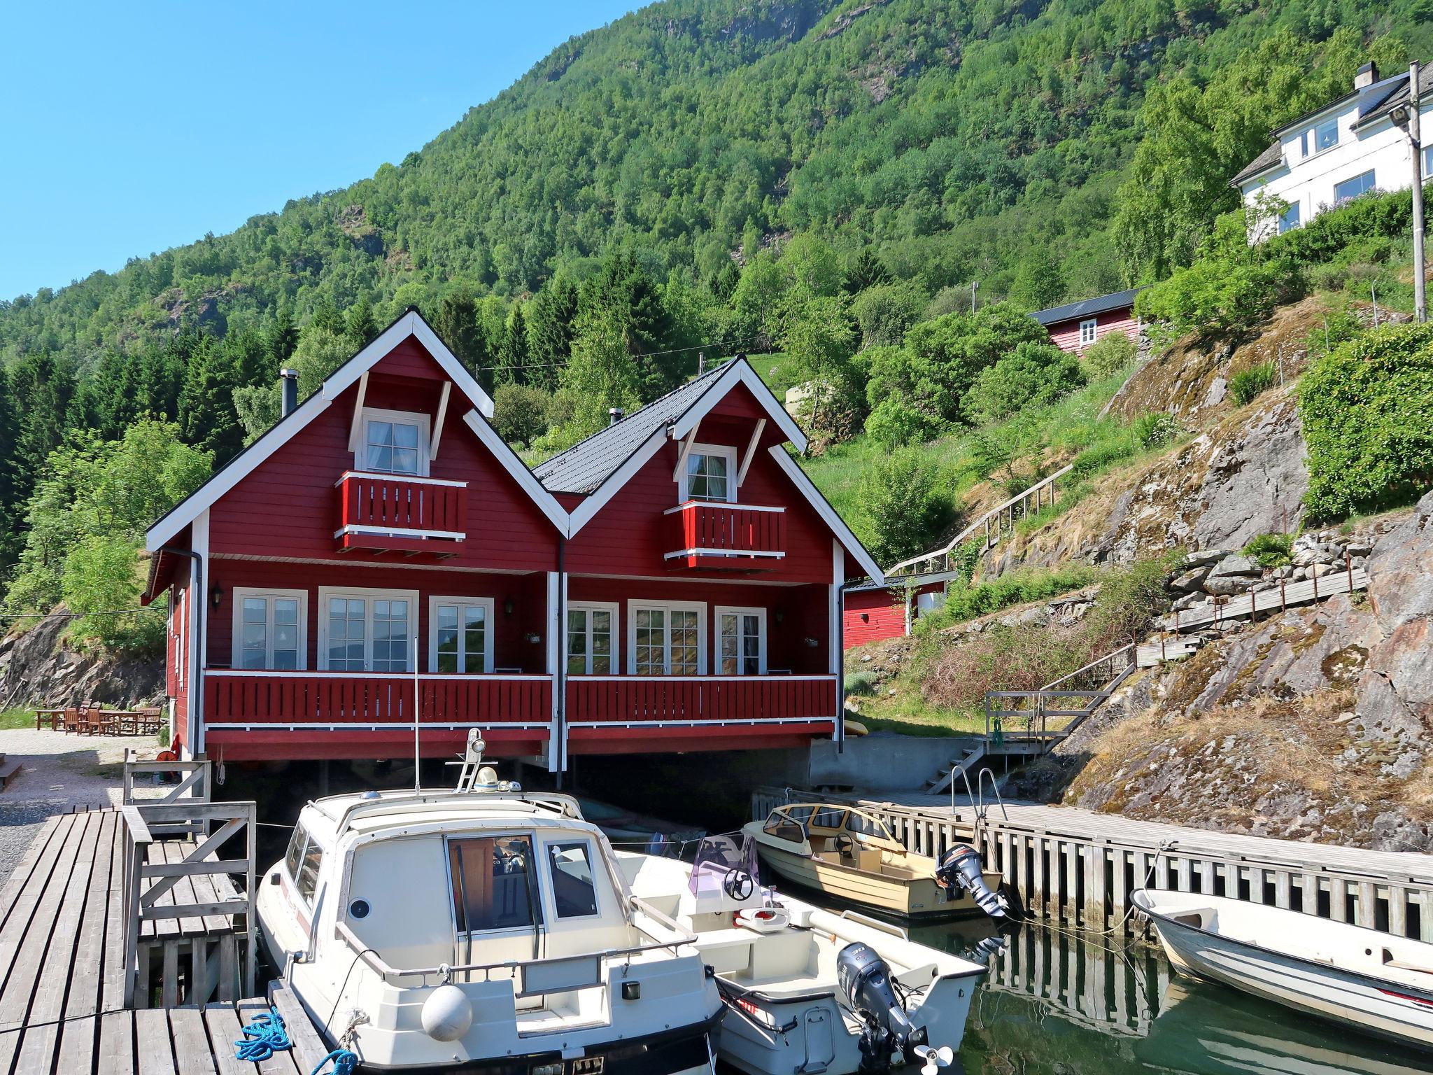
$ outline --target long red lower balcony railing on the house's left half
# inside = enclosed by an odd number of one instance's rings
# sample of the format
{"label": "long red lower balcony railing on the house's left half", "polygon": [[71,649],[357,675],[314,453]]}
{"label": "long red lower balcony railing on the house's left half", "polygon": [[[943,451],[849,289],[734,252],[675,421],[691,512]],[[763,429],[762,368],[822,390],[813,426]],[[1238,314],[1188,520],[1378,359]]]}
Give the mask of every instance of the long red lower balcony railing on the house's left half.
{"label": "long red lower balcony railing on the house's left half", "polygon": [[[420,724],[546,725],[550,675],[420,675]],[[413,677],[370,672],[203,674],[209,725],[413,727]]]}

